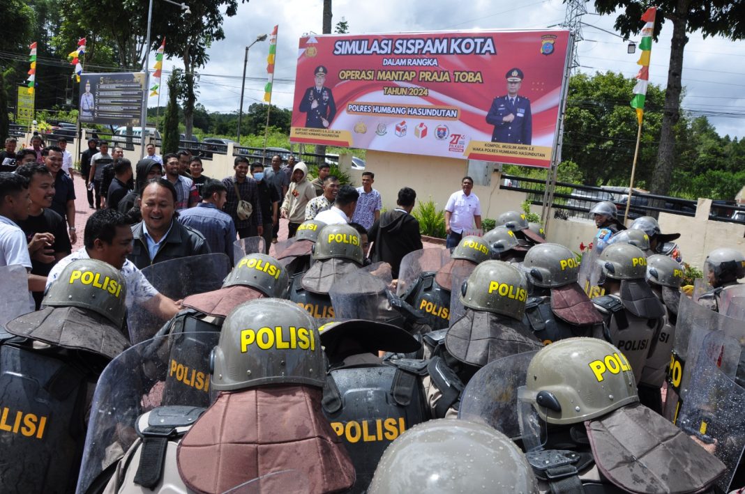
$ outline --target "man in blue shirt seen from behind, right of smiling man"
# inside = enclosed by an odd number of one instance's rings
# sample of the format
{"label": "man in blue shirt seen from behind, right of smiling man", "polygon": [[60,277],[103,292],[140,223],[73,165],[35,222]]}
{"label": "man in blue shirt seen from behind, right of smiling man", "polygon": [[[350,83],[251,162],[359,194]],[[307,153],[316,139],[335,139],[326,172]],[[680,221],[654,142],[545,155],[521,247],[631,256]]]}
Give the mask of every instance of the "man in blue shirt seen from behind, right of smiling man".
{"label": "man in blue shirt seen from behind, right of smiling man", "polygon": [[224,252],[232,264],[235,223],[229,214],[222,211],[227,193],[223,182],[207,179],[202,185],[202,202],[196,208],[181,211],[177,221],[200,231],[207,240],[209,250],[213,253]]}

